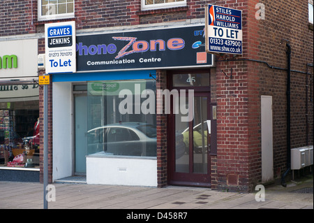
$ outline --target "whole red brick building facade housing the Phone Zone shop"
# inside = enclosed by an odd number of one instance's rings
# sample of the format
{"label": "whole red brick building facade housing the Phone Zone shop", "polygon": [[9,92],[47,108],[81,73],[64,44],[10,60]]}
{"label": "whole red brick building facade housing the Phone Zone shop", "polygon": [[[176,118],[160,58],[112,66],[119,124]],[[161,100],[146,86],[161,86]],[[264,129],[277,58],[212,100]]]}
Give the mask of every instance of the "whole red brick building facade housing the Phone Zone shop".
{"label": "whole red brick building facade housing the Phone Zone shop", "polygon": [[[241,55],[205,53],[207,4],[241,10]],[[292,173],[290,149],[313,148],[311,1],[5,0],[0,9],[0,44],[30,41],[25,52],[39,58],[47,48],[45,24],[75,21],[76,71],[51,74],[48,86],[50,182],[86,175],[89,184],[249,192]],[[18,49],[1,52],[2,62]],[[27,57],[17,55],[17,66]],[[36,83],[53,66],[27,62],[36,69],[20,74],[14,62],[0,69],[3,156],[13,148],[26,154],[29,141],[5,142],[10,127],[22,123],[14,103],[34,99],[36,109],[25,113],[36,110],[31,114],[43,123]],[[8,90],[29,85],[36,99]],[[7,129],[4,113],[15,120]],[[31,143],[34,121],[31,135],[19,134]],[[38,163],[27,169],[42,181],[43,125],[39,135]],[[25,175],[23,166],[1,165],[1,180]]]}

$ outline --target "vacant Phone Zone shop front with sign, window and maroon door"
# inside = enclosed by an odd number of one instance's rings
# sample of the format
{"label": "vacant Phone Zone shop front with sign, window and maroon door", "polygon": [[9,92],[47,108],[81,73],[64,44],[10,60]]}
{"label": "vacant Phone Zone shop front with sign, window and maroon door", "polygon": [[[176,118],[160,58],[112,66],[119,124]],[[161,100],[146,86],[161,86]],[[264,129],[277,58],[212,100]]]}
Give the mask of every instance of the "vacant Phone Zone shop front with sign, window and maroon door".
{"label": "vacant Phone Zone shop front with sign, window and maroon door", "polygon": [[210,185],[213,56],[203,34],[202,24],[77,34],[77,71],[51,74],[52,179],[158,187],[166,156],[170,183]]}

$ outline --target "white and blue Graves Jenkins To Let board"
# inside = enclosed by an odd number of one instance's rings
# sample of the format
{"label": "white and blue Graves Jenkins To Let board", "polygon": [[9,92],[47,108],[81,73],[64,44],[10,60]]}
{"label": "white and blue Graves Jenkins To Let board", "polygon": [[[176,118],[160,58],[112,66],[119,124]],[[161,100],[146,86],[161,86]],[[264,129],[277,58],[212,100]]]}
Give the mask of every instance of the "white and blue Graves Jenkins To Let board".
{"label": "white and blue Graves Jenkins To Let board", "polygon": [[45,24],[46,73],[76,71],[75,22]]}

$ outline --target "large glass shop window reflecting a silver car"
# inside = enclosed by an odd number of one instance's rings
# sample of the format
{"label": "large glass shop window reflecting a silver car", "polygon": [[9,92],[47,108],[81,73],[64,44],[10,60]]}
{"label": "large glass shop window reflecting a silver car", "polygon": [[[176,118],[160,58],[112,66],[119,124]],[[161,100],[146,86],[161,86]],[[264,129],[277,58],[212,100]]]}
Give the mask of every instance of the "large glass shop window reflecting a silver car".
{"label": "large glass shop window reflecting a silver car", "polygon": [[88,154],[156,157],[155,95],[155,80],[88,82]]}

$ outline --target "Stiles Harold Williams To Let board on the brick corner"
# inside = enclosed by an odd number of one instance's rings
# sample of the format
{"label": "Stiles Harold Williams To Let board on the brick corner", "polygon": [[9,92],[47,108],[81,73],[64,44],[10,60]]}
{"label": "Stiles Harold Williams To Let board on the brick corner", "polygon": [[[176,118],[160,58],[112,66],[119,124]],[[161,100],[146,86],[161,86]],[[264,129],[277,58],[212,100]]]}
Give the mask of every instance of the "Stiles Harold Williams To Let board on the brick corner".
{"label": "Stiles Harold Williams To Let board on the brick corner", "polygon": [[206,51],[242,54],[242,11],[207,6]]}

